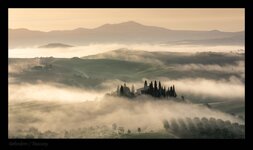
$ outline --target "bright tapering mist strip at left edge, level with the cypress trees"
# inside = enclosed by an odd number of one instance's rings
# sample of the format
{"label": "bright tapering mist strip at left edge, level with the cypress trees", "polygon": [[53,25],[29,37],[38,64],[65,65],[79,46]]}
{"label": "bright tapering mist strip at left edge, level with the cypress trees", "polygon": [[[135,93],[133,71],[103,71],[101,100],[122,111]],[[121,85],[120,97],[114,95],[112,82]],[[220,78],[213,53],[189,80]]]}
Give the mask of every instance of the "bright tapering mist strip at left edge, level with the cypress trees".
{"label": "bright tapering mist strip at left edge, level with the cypress trees", "polygon": [[11,84],[9,85],[9,103],[25,101],[48,102],[84,102],[96,100],[103,96],[95,90],[84,90],[62,84]]}

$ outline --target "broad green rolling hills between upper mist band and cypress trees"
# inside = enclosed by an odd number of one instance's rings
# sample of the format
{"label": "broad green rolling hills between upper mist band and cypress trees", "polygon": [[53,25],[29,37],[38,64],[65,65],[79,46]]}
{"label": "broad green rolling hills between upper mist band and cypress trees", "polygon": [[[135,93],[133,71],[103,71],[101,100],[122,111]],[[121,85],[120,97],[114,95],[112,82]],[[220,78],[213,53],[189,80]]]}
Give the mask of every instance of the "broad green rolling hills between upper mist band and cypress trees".
{"label": "broad green rolling hills between upper mist band and cypress trees", "polygon": [[[41,68],[35,69],[36,71],[34,71],[32,66],[36,64],[34,62],[38,62],[38,59],[40,62],[52,64],[53,67],[50,70]],[[240,72],[238,73],[236,71],[223,72],[203,69],[205,65],[211,65],[211,67],[217,68],[217,65],[236,65],[238,61],[244,61],[243,54],[204,52],[192,54],[115,50],[82,58],[9,58],[9,65],[18,65],[24,62],[30,64],[30,67],[21,73],[9,74],[19,78],[19,81],[22,80],[24,82],[41,80],[93,88],[102,81],[114,79],[131,82],[140,81],[143,78],[152,79],[157,77],[168,77],[170,79],[220,79],[229,78],[233,75],[241,78]],[[180,70],[180,65],[188,64],[197,64],[202,69]],[[241,80],[244,81],[243,78]]]}

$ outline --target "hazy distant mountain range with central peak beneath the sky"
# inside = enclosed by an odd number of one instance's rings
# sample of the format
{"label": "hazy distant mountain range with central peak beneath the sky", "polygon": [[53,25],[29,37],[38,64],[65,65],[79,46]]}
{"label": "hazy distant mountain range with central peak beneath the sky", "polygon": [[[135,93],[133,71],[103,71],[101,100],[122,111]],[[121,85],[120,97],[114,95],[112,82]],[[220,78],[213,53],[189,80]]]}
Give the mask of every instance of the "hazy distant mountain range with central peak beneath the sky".
{"label": "hazy distant mountain range with central peak beneath the sky", "polygon": [[25,28],[9,29],[9,48],[38,46],[54,42],[78,46],[94,43],[244,45],[244,34],[244,31],[170,30],[128,21],[119,24],[104,24],[93,29],[77,28],[49,32]]}

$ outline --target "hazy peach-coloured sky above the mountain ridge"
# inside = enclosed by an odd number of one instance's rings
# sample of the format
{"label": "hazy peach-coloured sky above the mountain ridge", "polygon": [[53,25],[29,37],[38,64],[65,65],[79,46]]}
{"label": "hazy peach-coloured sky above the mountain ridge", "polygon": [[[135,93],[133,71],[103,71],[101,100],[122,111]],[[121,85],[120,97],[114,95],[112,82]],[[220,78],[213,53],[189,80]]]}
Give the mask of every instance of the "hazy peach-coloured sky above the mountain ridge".
{"label": "hazy peach-coloured sky above the mountain ridge", "polygon": [[183,30],[244,30],[244,9],[9,9],[9,28],[65,30],[136,21]]}

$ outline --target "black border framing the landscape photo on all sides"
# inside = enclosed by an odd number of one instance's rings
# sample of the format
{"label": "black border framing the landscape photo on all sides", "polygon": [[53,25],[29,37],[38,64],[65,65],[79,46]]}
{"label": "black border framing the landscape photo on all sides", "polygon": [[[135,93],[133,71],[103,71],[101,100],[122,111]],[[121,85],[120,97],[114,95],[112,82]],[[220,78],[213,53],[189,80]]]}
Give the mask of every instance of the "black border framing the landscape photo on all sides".
{"label": "black border framing the landscape photo on all sides", "polygon": [[[252,106],[251,99],[252,92],[250,89],[251,79],[251,63],[253,57],[252,46],[251,45],[251,28],[253,27],[250,18],[252,17],[253,5],[246,3],[246,0],[240,1],[229,1],[224,0],[223,3],[218,0],[93,0],[93,1],[81,1],[81,0],[10,0],[4,1],[0,0],[0,18],[1,18],[1,94],[4,98],[0,100],[1,108],[1,119],[3,120],[0,125],[1,140],[0,144],[8,148],[77,148],[81,146],[82,148],[88,148],[86,146],[91,146],[92,148],[102,146],[109,146],[108,148],[136,148],[134,145],[141,145],[144,147],[154,147],[156,149],[172,148],[240,148],[242,149],[246,144],[250,144],[252,124],[251,117],[249,115]],[[8,8],[245,8],[245,131],[246,138],[242,140],[199,140],[199,139],[147,139],[147,140],[131,140],[131,139],[8,139]],[[247,32],[246,32],[247,31]],[[3,97],[3,96],[1,96]],[[46,143],[48,146],[41,147],[30,147],[30,146],[12,146],[13,143]],[[217,145],[219,144],[219,145]]]}

